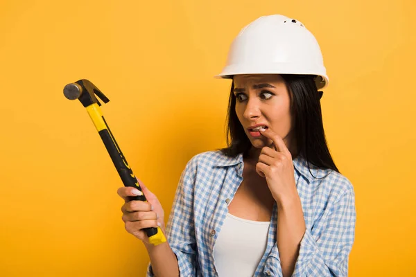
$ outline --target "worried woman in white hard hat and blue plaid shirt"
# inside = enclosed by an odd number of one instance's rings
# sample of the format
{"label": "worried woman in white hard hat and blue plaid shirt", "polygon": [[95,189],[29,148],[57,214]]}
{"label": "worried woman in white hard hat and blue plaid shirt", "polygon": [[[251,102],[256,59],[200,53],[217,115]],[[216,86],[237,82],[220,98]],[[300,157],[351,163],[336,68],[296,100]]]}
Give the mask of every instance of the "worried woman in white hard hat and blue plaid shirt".
{"label": "worried woman in white hard hat and blue plaid shirt", "polygon": [[125,229],[146,245],[148,276],[347,276],[354,189],[331,158],[320,109],[328,84],[320,47],[282,15],[243,28],[219,78],[232,79],[228,148],[197,154],[161,226],[157,197],[119,188]]}

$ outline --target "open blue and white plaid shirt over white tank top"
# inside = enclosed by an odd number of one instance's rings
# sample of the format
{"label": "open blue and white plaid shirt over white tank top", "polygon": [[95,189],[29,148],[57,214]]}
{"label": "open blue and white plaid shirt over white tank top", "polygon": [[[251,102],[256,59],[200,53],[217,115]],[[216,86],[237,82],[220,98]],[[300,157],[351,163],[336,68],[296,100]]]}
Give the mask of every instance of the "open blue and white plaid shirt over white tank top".
{"label": "open blue and white plaid shirt over white tank top", "polygon": [[[309,164],[312,176],[299,156],[293,165],[306,222],[293,276],[347,276],[356,223],[352,184],[336,171]],[[218,276],[214,244],[227,215],[227,202],[243,181],[243,166],[243,154],[229,158],[219,150],[197,154],[187,163],[166,226],[180,276]],[[256,277],[282,276],[276,244],[277,216],[275,203]],[[147,276],[153,276],[150,264]]]}

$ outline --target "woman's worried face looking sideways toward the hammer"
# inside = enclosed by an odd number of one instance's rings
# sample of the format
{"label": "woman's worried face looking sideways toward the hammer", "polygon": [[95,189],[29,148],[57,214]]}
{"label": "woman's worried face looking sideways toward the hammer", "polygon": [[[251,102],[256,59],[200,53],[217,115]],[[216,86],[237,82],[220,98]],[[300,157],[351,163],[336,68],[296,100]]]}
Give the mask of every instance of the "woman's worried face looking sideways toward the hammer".
{"label": "woman's worried face looking sideways toward the hammer", "polygon": [[260,132],[252,132],[254,125],[266,125],[272,129],[291,150],[291,99],[280,75],[234,75],[234,96],[236,114],[252,143],[252,154],[272,145],[272,140]]}

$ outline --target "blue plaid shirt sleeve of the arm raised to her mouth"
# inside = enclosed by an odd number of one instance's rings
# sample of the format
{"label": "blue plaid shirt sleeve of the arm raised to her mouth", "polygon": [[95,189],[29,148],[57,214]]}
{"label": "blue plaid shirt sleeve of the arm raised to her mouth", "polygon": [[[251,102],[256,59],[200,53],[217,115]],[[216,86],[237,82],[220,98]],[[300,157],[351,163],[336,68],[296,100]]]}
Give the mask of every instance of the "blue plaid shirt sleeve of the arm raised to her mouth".
{"label": "blue plaid shirt sleeve of the arm raised to her mouth", "polygon": [[347,276],[355,224],[355,195],[349,184],[312,230],[304,233],[292,276]]}

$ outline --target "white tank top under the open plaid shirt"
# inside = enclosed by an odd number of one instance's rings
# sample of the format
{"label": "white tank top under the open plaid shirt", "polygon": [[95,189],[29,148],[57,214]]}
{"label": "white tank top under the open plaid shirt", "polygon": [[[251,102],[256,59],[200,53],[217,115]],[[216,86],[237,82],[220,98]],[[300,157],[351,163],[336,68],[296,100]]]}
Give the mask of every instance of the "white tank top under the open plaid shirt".
{"label": "white tank top under the open plaid shirt", "polygon": [[244,220],[227,213],[214,245],[219,277],[252,277],[266,251],[270,222]]}

